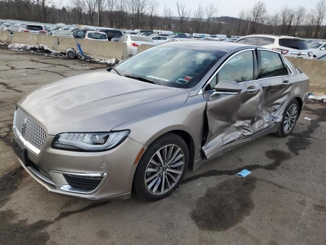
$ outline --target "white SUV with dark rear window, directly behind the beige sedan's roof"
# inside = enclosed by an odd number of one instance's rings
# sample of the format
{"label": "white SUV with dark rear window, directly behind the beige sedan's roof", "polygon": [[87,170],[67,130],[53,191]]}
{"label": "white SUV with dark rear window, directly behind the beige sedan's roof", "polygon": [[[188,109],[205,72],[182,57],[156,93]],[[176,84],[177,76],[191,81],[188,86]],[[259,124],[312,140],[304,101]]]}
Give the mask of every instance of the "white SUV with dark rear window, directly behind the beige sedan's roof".
{"label": "white SUV with dark rear window, directly behind the beige sedan's roof", "polygon": [[263,46],[280,52],[287,57],[306,58],[312,56],[312,52],[308,51],[308,45],[304,39],[281,36],[281,35],[250,35],[241,37],[236,40],[238,43],[245,43],[255,46]]}

